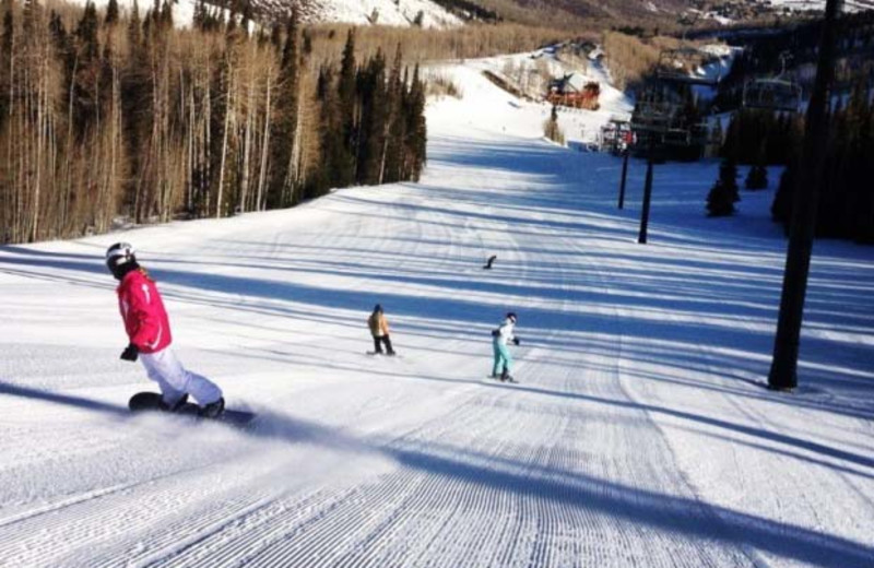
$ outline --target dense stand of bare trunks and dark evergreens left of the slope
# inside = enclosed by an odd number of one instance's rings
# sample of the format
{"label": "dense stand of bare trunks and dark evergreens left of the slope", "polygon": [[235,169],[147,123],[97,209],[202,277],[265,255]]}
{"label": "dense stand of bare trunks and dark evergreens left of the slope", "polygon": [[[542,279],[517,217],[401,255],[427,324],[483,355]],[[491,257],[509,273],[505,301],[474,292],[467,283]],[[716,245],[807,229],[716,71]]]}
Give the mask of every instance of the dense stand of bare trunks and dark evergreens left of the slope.
{"label": "dense stand of bare trunks and dark evergreens left of the slope", "polygon": [[169,2],[59,14],[3,0],[0,242],[286,208],[354,184],[417,180],[418,69],[382,50],[314,60],[296,14],[256,29]]}

